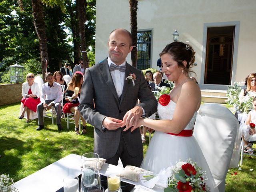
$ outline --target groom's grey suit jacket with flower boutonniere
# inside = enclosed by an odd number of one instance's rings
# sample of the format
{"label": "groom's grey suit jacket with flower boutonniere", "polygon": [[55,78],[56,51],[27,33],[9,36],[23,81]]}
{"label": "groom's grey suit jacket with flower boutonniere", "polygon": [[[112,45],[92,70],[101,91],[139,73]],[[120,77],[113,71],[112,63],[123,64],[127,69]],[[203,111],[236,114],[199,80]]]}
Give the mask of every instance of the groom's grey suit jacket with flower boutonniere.
{"label": "groom's grey suit jacket with flower boutonniere", "polygon": [[123,92],[119,100],[107,58],[86,68],[78,109],[86,122],[95,128],[94,152],[102,158],[109,159],[116,154],[121,136],[124,138],[130,156],[138,156],[143,151],[139,129],[133,132],[130,130],[123,132],[124,128],[102,131],[102,121],[105,117],[122,120],[126,112],[136,106],[137,99],[140,100],[140,106],[145,110],[147,117],[157,110],[157,101],[149,90],[142,71],[126,63],[125,78],[130,73],[136,75],[135,86],[131,80],[124,80]]}

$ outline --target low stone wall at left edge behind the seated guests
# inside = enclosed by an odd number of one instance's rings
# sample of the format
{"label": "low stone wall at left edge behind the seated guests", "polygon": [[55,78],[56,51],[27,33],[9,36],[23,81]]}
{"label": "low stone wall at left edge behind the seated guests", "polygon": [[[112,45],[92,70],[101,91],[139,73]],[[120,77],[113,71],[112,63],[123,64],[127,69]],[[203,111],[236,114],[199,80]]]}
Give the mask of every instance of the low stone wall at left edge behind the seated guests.
{"label": "low stone wall at left edge behind the seated guests", "polygon": [[20,102],[22,83],[0,85],[0,106]]}

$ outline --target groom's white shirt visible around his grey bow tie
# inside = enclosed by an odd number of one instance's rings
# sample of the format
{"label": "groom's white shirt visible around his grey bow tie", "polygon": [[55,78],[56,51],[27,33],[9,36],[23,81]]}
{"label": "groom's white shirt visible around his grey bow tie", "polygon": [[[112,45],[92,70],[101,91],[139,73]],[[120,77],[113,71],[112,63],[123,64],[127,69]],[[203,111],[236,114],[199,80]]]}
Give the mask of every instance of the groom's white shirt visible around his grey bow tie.
{"label": "groom's white shirt visible around his grey bow tie", "polygon": [[[110,57],[108,56],[108,67],[110,66],[111,63],[116,65],[114,62],[111,61]],[[126,61],[124,61],[119,66],[125,66],[125,64],[126,64]],[[114,71],[111,71],[110,74],[112,76],[112,80],[113,80],[115,88],[116,88],[116,93],[117,93],[118,97],[120,97],[123,92],[125,72],[120,72],[119,70],[114,70]]]}

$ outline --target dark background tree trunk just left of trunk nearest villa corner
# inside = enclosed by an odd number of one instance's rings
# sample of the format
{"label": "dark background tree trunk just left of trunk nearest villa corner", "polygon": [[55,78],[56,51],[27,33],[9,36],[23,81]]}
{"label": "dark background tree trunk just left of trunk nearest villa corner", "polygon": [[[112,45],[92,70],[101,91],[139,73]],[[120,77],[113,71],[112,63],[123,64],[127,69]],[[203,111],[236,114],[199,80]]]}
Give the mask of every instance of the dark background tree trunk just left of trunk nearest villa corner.
{"label": "dark background tree trunk just left of trunk nearest villa corner", "polygon": [[81,57],[81,51],[80,51],[80,36],[79,36],[79,27],[77,24],[78,21],[78,6],[77,4],[75,4],[76,8],[75,8],[75,12],[76,14],[74,14],[73,8],[72,8],[72,4],[71,1],[67,2],[68,4],[68,11],[70,14],[70,25],[71,25],[71,30],[72,30],[72,39],[73,39],[73,52],[74,52],[74,63],[71,61],[69,61],[69,63],[71,65],[75,65],[75,64],[79,64],[80,61],[80,57]]}

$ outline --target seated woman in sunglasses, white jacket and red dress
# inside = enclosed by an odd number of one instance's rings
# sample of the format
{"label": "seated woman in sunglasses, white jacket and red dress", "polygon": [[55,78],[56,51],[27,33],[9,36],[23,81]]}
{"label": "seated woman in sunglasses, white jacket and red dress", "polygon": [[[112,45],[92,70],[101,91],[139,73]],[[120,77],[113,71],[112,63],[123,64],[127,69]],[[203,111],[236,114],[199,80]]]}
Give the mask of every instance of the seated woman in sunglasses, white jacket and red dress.
{"label": "seated woman in sunglasses, white jacket and red dress", "polygon": [[40,90],[36,82],[34,82],[34,74],[28,73],[26,76],[27,82],[22,84],[22,104],[23,110],[22,114],[19,116],[19,119],[24,118],[25,112],[27,112],[26,123],[29,122],[30,110],[36,112],[36,106],[40,103]]}

